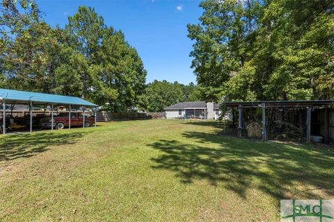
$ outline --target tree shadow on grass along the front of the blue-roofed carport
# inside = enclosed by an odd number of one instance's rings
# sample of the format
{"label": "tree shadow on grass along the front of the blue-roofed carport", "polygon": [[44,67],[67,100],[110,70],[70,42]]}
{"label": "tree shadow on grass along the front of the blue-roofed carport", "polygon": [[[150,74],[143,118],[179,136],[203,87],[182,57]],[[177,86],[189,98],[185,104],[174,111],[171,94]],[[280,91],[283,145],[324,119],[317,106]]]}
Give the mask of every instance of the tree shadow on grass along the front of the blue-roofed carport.
{"label": "tree shadow on grass along the front of the blue-roofed carport", "polygon": [[20,133],[0,137],[0,161],[31,157],[49,146],[74,144],[89,132]]}

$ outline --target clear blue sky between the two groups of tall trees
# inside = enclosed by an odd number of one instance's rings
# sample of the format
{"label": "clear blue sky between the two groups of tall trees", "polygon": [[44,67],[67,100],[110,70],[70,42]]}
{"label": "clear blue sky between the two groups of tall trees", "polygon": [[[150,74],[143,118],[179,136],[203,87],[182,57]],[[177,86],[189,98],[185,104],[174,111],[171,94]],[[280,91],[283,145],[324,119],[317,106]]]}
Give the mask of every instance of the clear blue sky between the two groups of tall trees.
{"label": "clear blue sky between the two groups of tall trees", "polygon": [[196,83],[190,69],[192,49],[186,24],[198,23],[200,0],[36,0],[44,19],[51,26],[64,26],[78,6],[95,8],[107,26],[125,33],[136,47],[145,69],[147,82],[168,80]]}

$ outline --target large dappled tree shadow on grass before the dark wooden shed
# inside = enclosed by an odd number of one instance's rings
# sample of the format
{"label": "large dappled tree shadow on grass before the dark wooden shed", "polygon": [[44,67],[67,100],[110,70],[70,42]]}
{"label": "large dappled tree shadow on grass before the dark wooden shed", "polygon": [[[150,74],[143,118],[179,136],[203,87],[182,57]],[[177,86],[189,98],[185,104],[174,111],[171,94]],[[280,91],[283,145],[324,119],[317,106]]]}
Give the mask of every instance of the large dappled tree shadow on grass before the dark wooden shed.
{"label": "large dappled tree shadow on grass before the dark wooden shed", "polygon": [[217,133],[185,132],[182,136],[189,143],[161,139],[150,144],[163,152],[152,159],[152,167],[174,171],[184,183],[207,180],[211,185],[222,185],[242,198],[251,188],[276,200],[333,197],[333,150],[221,137]]}

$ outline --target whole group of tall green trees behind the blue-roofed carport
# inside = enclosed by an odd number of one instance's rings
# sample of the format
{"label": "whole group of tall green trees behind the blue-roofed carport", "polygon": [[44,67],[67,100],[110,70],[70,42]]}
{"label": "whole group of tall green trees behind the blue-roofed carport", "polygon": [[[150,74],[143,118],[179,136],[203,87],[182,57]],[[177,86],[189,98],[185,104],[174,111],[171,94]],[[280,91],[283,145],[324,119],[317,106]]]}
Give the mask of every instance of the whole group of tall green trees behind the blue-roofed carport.
{"label": "whole group of tall green trees behind the blue-roofed carport", "polygon": [[52,28],[34,1],[3,0],[0,24],[0,87],[81,96],[114,112],[138,106],[143,62],[93,8]]}

